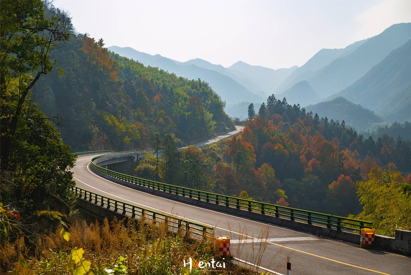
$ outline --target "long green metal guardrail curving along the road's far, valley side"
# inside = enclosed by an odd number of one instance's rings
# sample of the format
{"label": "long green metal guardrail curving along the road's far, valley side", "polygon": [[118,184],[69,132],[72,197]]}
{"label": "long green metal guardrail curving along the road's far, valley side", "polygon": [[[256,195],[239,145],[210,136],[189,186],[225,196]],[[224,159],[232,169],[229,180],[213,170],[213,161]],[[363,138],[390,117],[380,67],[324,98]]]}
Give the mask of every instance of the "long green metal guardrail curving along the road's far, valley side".
{"label": "long green metal guardrail curving along the road's far, valley side", "polygon": [[315,226],[325,226],[327,228],[332,228],[337,231],[347,231],[347,232],[360,232],[361,228],[367,227],[372,228],[372,222],[363,221],[359,219],[350,219],[347,217],[334,216],[331,214],[324,214],[319,212],[313,212],[308,210],[302,210],[292,207],[286,207],[282,205],[275,205],[271,203],[259,202],[256,200],[247,200],[243,198],[237,198],[233,196],[226,196],[222,194],[216,194],[207,191],[201,191],[196,189],[191,189],[187,187],[182,187],[178,185],[166,184],[163,182],[155,182],[149,179],[142,179],[139,177],[134,177],[130,175],[125,175],[120,172],[109,170],[103,168],[94,163],[95,160],[102,158],[104,156],[115,156],[122,154],[136,154],[143,153],[143,151],[125,151],[116,152],[112,154],[105,154],[102,156],[96,156],[91,160],[91,167],[97,171],[114,177],[116,179],[121,179],[126,182],[137,184],[143,187],[148,187],[151,189],[164,191],[167,193],[173,193],[178,196],[194,198],[197,200],[203,200],[208,203],[215,203],[217,205],[224,205],[227,207],[233,207],[241,210],[246,210],[250,212],[256,212],[263,215],[275,216],[277,218],[288,219],[291,221],[299,221],[306,224],[312,224]]}

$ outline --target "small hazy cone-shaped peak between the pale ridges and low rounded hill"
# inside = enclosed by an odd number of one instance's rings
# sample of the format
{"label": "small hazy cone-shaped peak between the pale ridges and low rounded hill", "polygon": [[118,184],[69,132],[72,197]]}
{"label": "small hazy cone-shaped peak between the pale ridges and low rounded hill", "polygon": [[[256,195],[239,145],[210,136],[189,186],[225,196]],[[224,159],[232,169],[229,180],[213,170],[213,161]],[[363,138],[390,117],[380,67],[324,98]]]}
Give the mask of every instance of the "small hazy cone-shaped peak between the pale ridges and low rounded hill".
{"label": "small hazy cone-shaped peak between the pale ridges and low rounded hill", "polygon": [[298,82],[284,93],[275,96],[279,99],[285,97],[289,104],[300,104],[300,106],[315,104],[321,100],[320,96],[314,89],[312,89],[311,85],[306,80]]}

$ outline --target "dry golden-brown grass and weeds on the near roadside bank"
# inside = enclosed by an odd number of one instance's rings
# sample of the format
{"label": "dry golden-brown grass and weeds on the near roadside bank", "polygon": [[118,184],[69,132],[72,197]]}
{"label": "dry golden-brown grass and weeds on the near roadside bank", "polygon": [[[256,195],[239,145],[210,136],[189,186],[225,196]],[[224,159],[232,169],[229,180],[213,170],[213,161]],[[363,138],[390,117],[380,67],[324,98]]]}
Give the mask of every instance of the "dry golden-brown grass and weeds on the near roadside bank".
{"label": "dry golden-brown grass and weeds on the near roadside bank", "polygon": [[[63,234],[61,234],[63,233]],[[64,235],[62,228],[38,235],[31,245],[19,237],[2,245],[0,261],[7,274],[188,274],[183,260],[219,261],[213,242],[193,241],[167,233],[163,225],[129,219],[87,224],[76,221]],[[228,260],[228,261],[227,261]],[[226,268],[193,268],[189,274],[255,274],[226,259]],[[188,268],[188,266],[187,266]]]}

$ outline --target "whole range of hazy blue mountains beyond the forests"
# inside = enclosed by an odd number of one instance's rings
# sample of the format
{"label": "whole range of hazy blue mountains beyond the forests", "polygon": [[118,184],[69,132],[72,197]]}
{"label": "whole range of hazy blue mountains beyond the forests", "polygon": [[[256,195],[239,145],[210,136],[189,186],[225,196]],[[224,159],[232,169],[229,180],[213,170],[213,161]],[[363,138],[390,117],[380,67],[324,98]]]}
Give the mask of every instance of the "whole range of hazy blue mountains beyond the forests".
{"label": "whole range of hazy blue mountains beyond the forests", "polygon": [[[345,101],[342,104],[340,99],[340,107],[356,110],[359,114],[360,104],[380,116],[374,114],[372,119],[370,115],[356,123],[363,127],[381,122],[381,118],[386,122],[411,120],[410,39],[411,23],[399,23],[345,48],[321,49],[300,68],[293,66],[277,70],[242,61],[224,68],[199,58],[179,62],[129,47],[113,46],[109,49],[144,65],[208,82],[226,101],[226,112],[231,117],[246,118],[246,107],[250,102],[258,110],[272,93],[277,98],[285,97],[289,103],[301,106],[317,106],[315,103],[320,101],[336,103],[333,100],[342,96]],[[352,106],[349,107],[346,101],[351,101]],[[320,109],[324,110],[326,105],[321,106]],[[334,114],[336,117],[328,117],[343,119],[337,116],[338,110]],[[361,117],[357,119],[362,120]]]}

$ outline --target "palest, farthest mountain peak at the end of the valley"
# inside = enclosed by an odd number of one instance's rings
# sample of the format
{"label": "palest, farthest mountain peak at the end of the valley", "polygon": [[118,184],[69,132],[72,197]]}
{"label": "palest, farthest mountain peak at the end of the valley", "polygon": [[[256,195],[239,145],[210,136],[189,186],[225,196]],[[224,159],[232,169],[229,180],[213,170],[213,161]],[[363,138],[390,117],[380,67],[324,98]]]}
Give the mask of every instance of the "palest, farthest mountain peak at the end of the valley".
{"label": "palest, farthest mountain peak at the end of the valley", "polygon": [[[274,93],[279,84],[284,81],[298,66],[282,69],[270,69],[262,66],[249,65],[245,62],[238,61],[231,65],[228,69],[233,73],[241,76],[247,76],[258,87],[259,91],[268,96]],[[240,73],[241,74],[240,74]]]}

